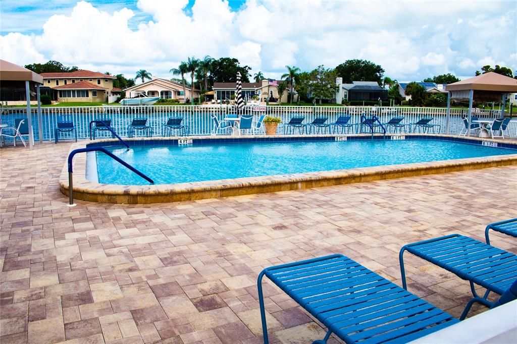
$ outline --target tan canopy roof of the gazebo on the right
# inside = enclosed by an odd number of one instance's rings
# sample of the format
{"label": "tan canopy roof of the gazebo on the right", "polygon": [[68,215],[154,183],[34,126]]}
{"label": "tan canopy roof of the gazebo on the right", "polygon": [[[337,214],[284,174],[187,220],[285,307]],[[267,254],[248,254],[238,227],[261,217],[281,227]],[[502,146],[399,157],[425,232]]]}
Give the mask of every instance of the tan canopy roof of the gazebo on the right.
{"label": "tan canopy roof of the gazebo on the right", "polygon": [[446,87],[447,91],[464,91],[471,89],[513,93],[517,92],[517,80],[498,73],[488,72],[447,85]]}

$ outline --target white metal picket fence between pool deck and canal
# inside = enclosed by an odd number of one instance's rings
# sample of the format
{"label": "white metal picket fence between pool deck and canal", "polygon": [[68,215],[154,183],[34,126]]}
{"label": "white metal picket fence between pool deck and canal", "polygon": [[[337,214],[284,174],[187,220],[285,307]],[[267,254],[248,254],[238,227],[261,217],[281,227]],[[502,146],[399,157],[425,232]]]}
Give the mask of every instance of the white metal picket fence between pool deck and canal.
{"label": "white metal picket fence between pool deck and canal", "polygon": [[[422,117],[433,117],[433,124],[440,124],[440,133],[446,132],[446,108],[442,107],[389,107],[389,106],[245,106],[240,114],[253,115],[255,118],[262,114],[280,117],[286,123],[293,116],[304,116],[304,123],[310,123],[318,116],[328,117],[327,123],[335,122],[339,116],[351,116],[350,123],[360,123],[360,117],[375,115],[382,123],[392,117],[404,117],[402,123],[414,123]],[[94,120],[111,119],[111,127],[122,137],[129,136],[128,126],[134,118],[147,118],[147,125],[153,129],[154,136],[160,136],[162,126],[170,117],[183,117],[188,126],[188,135],[209,135],[214,123],[210,115],[216,114],[224,119],[229,114],[235,114],[233,106],[226,105],[194,105],[194,106],[78,106],[78,107],[43,107],[41,108],[42,126],[39,128],[36,108],[31,110],[34,137],[37,140],[39,132],[43,140],[54,139],[54,129],[58,121],[71,121],[77,129],[79,138],[89,138],[89,123]],[[467,109],[450,109],[449,133],[459,134],[464,128],[462,117],[467,116]],[[474,110],[473,116],[479,118],[500,117],[497,110]],[[2,122],[14,126],[17,118],[26,118],[25,108],[4,108]],[[282,126],[279,133],[283,132]],[[517,120],[512,120],[508,134],[517,137]],[[111,137],[111,133],[101,135]]]}

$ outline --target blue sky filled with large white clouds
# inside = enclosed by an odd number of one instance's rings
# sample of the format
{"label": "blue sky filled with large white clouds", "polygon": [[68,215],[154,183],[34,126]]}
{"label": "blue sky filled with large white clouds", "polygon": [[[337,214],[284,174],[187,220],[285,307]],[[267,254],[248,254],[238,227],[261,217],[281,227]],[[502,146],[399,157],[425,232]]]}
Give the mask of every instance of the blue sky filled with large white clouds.
{"label": "blue sky filled with large white clouds", "polygon": [[279,77],[367,59],[399,81],[517,69],[516,1],[2,0],[2,58],[134,76],[189,56],[236,57]]}

